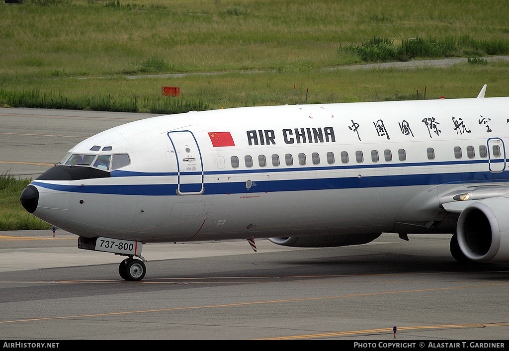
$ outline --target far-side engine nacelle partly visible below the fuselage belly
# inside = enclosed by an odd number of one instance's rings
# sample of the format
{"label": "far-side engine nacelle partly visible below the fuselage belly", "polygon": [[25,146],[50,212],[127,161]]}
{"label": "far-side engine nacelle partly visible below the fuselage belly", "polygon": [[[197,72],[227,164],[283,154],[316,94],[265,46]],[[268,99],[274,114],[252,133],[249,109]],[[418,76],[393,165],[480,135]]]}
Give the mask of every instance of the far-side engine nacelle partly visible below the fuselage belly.
{"label": "far-side engine nacelle partly visible below the fuselage belly", "polygon": [[375,240],[382,233],[320,235],[320,236],[289,236],[269,238],[274,244],[294,248],[333,248],[338,246],[361,245]]}

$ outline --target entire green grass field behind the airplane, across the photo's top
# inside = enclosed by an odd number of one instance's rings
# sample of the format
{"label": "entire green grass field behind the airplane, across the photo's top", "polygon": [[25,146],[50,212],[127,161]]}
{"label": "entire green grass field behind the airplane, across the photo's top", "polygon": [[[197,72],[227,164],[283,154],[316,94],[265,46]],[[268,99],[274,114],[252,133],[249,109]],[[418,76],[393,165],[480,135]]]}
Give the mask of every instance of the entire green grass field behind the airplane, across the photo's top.
{"label": "entire green grass field behind the airplane, across the photo's top", "polygon": [[[421,58],[482,63],[483,56],[506,55],[509,6],[502,0],[490,6],[460,0],[426,6],[404,0],[26,0],[0,4],[0,17],[4,106],[176,113],[385,100],[423,86],[429,97],[467,97],[485,83],[489,96],[509,95],[502,64],[324,71]],[[267,73],[239,73],[252,70]],[[207,72],[224,74],[126,77]],[[162,86],[180,87],[181,96],[162,97]]]}

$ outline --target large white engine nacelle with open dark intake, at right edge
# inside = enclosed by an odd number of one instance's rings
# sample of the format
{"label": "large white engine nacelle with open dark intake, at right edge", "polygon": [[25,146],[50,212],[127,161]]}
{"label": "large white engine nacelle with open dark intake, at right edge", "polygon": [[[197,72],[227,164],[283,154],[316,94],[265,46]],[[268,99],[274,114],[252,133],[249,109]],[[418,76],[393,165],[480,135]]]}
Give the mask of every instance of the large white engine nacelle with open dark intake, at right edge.
{"label": "large white engine nacelle with open dark intake, at right edge", "polygon": [[462,253],[477,262],[509,262],[509,199],[476,201],[460,214],[457,226]]}

